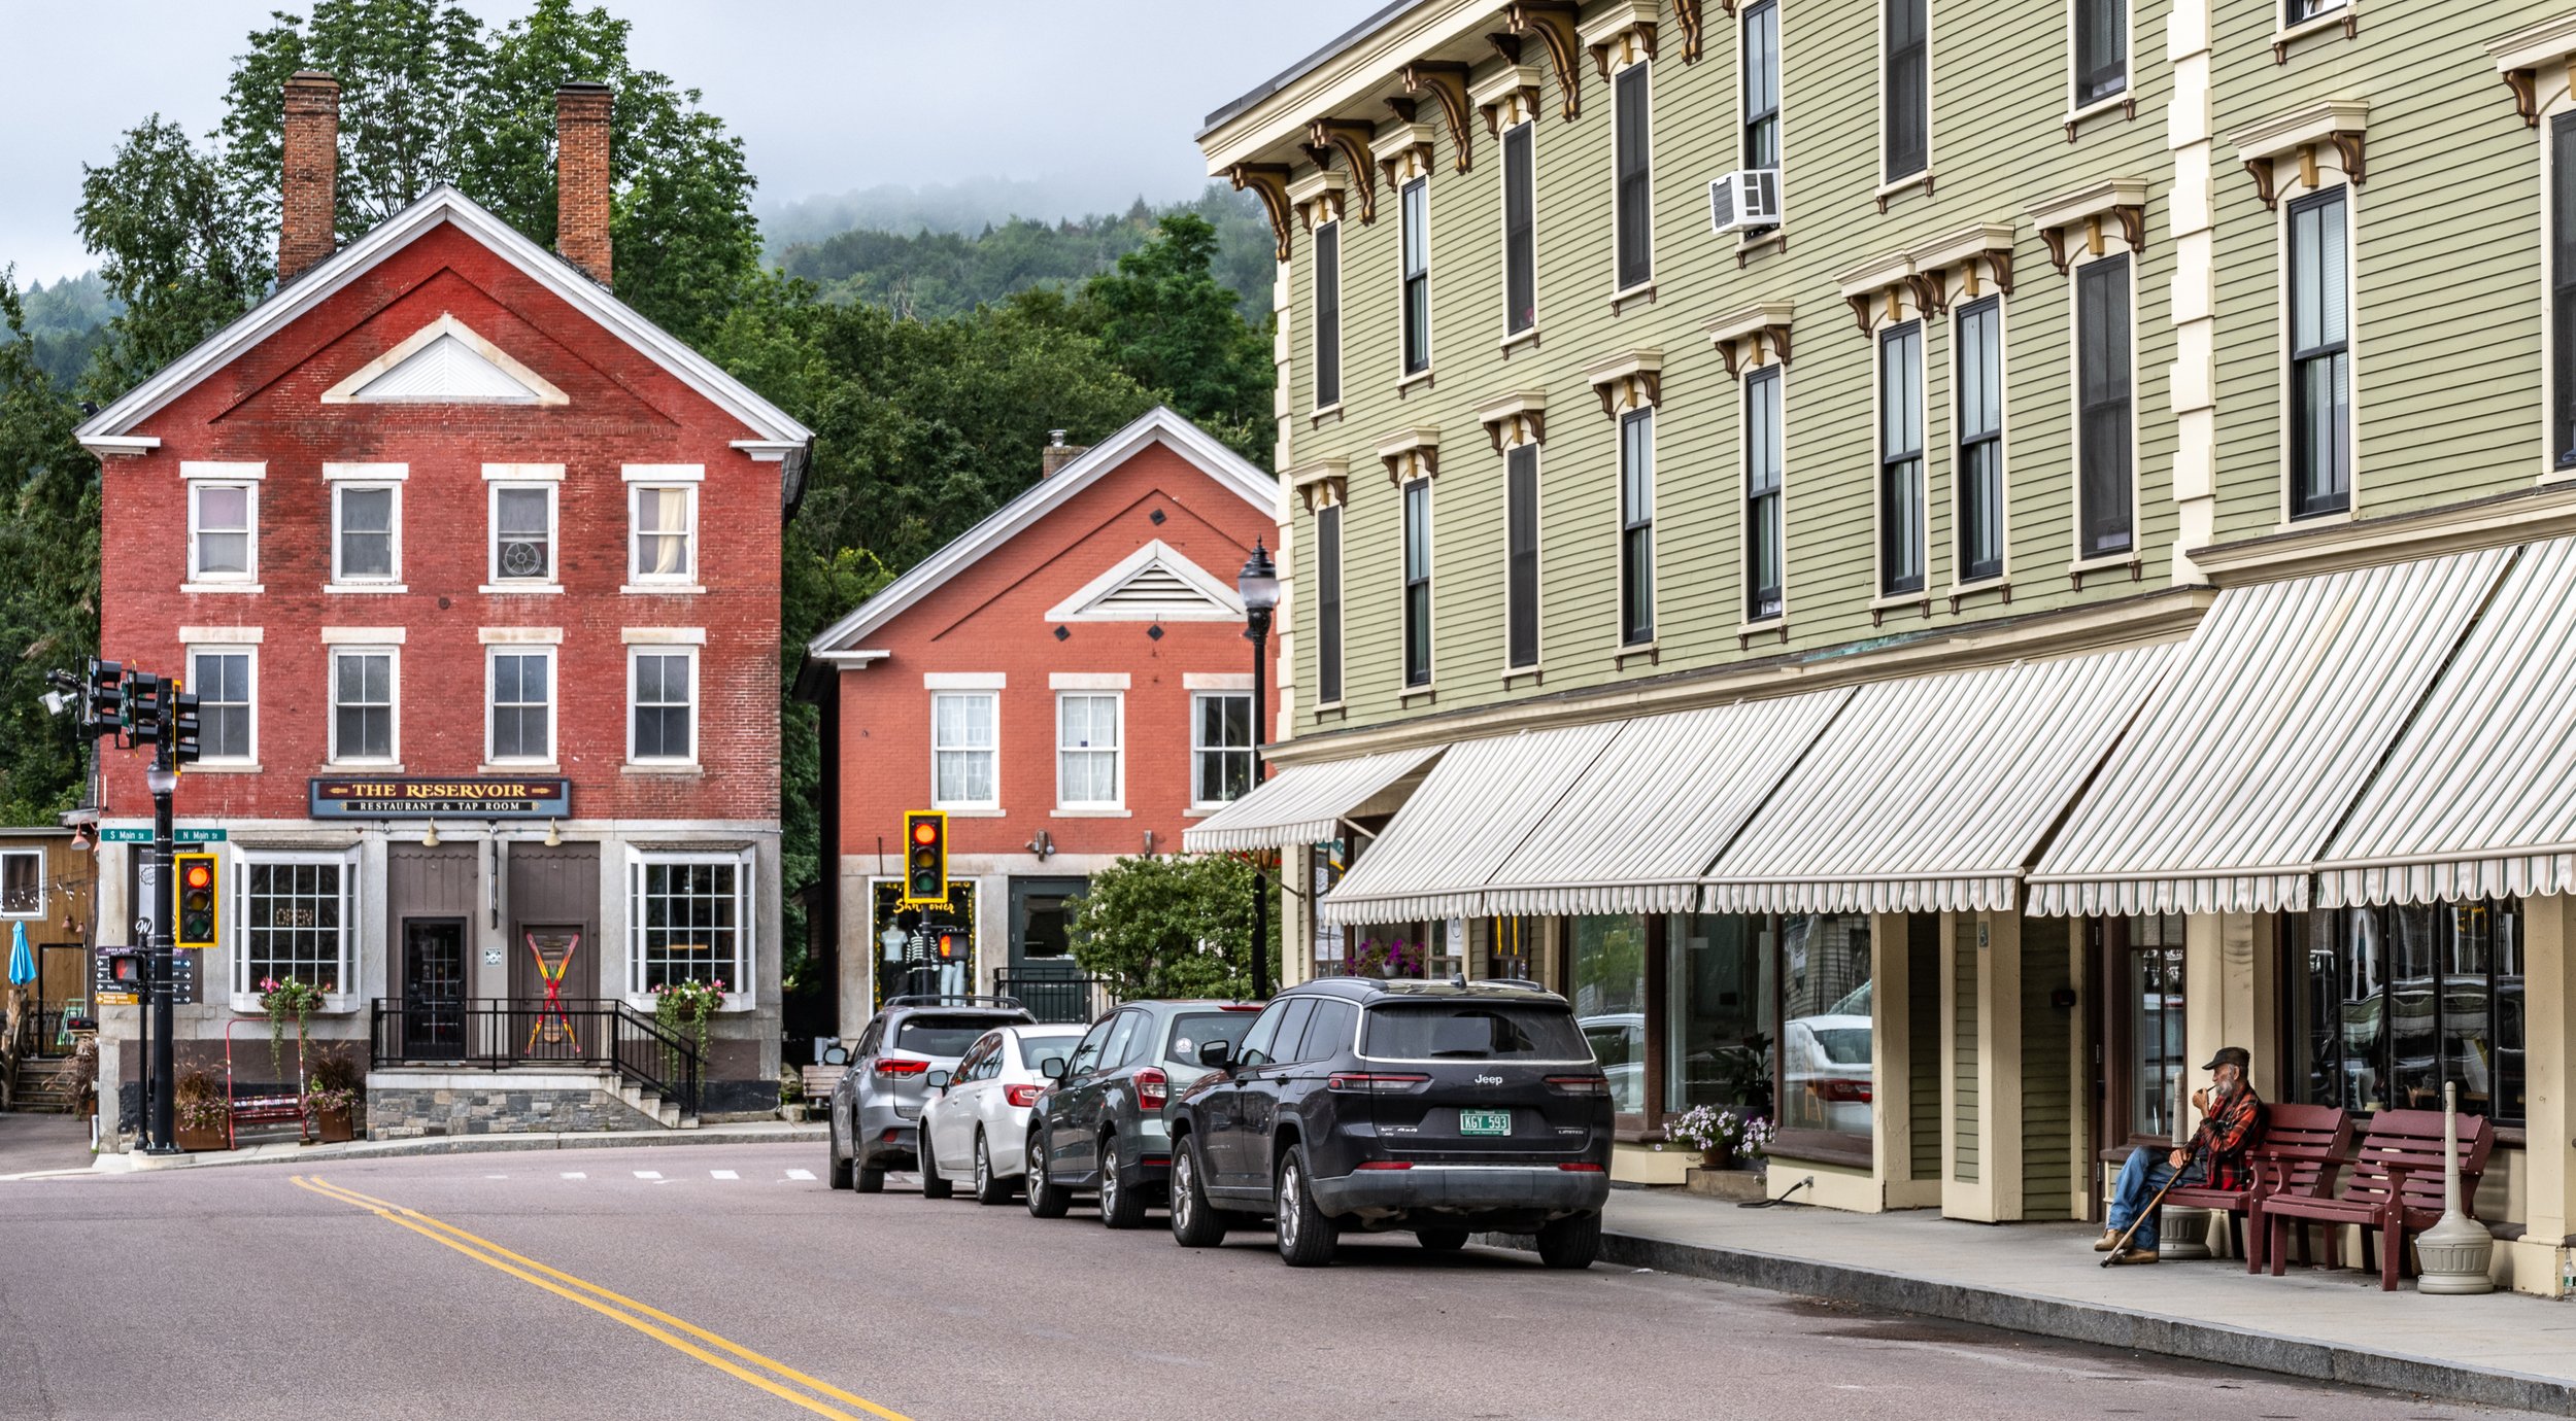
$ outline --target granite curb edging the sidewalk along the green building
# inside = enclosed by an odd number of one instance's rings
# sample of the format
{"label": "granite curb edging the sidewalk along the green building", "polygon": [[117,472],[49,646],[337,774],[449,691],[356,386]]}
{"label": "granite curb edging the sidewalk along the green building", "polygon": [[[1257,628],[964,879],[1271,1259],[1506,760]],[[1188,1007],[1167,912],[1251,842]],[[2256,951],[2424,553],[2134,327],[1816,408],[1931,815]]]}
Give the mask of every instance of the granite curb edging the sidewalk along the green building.
{"label": "granite curb edging the sidewalk along the green building", "polygon": [[[1535,1251],[1535,1238],[1486,1233],[1479,1243]],[[2501,1367],[2476,1367],[2406,1351],[2372,1351],[2290,1333],[2205,1323],[2130,1308],[2102,1308],[2002,1287],[1976,1287],[1899,1272],[1829,1264],[1754,1249],[1680,1243],[1602,1231],[1602,1261],[1638,1269],[1736,1282],[1767,1292],[1795,1292],[1837,1303],[1865,1303],[1953,1323],[2092,1341],[2159,1357],[2187,1357],[2316,1382],[2419,1393],[2442,1400],[2576,1416],[2576,1385]]]}

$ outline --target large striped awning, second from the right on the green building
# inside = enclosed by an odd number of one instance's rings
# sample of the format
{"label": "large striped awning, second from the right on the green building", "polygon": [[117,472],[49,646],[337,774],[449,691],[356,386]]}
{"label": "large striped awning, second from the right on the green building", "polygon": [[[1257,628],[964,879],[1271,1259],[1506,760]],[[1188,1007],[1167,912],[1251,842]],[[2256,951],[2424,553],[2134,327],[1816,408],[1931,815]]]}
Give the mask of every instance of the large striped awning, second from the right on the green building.
{"label": "large striped awning, second from the right on the green building", "polygon": [[2030,875],[2035,914],[2298,911],[2509,548],[2228,587]]}

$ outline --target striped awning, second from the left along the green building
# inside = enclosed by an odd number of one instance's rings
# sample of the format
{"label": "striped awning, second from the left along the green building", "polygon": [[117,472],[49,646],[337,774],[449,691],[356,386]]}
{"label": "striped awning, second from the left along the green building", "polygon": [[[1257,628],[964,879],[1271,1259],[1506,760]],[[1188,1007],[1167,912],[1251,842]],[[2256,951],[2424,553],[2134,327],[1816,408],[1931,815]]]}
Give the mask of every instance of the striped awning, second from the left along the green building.
{"label": "striped awning, second from the left along the green building", "polygon": [[1484,911],[1484,886],[1620,734],[1618,721],[1453,744],[1324,893],[1332,924]]}

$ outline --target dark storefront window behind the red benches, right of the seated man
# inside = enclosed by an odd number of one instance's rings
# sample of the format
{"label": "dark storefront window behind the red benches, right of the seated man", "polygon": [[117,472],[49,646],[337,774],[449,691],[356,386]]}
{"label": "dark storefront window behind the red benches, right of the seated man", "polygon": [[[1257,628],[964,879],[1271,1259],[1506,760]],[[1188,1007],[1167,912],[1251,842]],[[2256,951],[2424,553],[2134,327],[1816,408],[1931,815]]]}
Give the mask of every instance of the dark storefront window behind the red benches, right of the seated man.
{"label": "dark storefront window behind the red benches, right of the seated man", "polygon": [[2285,1094],[2344,1110],[2522,1120],[2522,914],[2504,904],[2318,909],[2287,922]]}

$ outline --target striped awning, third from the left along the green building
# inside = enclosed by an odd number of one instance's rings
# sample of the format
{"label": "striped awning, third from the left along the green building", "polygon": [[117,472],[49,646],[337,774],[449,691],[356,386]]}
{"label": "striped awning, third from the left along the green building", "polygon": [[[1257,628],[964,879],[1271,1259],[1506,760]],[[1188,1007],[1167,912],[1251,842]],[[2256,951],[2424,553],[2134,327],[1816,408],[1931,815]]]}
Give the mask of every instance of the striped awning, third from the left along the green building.
{"label": "striped awning, third from the left along the green building", "polygon": [[1620,726],[1494,870],[1484,914],[1687,914],[1698,878],[1852,700],[1844,687]]}

